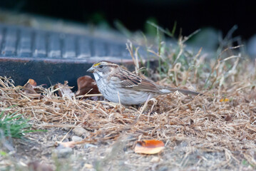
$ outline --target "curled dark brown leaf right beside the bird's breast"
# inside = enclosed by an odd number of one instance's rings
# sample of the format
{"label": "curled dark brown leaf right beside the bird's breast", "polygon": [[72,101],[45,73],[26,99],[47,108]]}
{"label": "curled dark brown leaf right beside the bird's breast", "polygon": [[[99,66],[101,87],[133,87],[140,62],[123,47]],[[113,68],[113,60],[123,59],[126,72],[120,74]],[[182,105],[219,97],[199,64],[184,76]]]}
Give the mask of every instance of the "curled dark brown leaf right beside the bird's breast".
{"label": "curled dark brown leaf right beside the bird's breast", "polygon": [[76,96],[88,94],[98,94],[98,86],[96,81],[91,78],[91,76],[81,76],[77,79],[78,90],[76,92]]}

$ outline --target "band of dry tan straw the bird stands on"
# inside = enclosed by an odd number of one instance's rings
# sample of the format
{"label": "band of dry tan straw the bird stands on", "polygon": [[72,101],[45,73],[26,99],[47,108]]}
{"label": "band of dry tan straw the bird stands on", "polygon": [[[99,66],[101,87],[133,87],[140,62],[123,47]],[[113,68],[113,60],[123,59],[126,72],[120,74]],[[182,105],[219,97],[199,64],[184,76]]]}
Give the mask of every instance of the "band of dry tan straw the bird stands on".
{"label": "band of dry tan straw the bird stands on", "polygon": [[[185,160],[195,150],[224,152],[225,158],[215,168],[239,167],[242,160],[255,168],[256,155],[256,91],[249,77],[238,76],[241,82],[226,83],[204,96],[190,97],[179,93],[162,95],[153,100],[143,113],[118,104],[58,97],[51,88],[40,88],[43,98],[29,98],[19,86],[1,77],[0,108],[20,110],[39,125],[81,125],[91,130],[86,142],[115,142],[121,137],[163,140],[172,149],[186,142]],[[238,79],[237,78],[237,79]],[[222,95],[229,99],[220,102]],[[121,110],[121,111],[120,111]],[[138,114],[141,113],[138,118]],[[170,150],[171,152],[171,150]],[[200,166],[200,163],[198,164]]]}

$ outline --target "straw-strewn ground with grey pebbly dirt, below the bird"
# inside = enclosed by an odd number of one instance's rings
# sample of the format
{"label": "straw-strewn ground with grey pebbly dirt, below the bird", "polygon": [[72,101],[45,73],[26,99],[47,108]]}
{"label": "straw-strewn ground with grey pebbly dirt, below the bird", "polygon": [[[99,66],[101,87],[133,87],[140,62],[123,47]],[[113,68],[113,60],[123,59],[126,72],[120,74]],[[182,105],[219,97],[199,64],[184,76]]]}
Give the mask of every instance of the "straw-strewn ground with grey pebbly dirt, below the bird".
{"label": "straw-strewn ground with grey pebbly dirt, below the bird", "polygon": [[[19,109],[34,129],[48,131],[12,139],[14,150],[1,157],[1,170],[34,165],[38,170],[255,170],[255,90],[231,91],[227,102],[178,92],[162,95],[140,118],[141,107],[60,98],[43,90],[45,98],[31,99],[5,87],[16,99],[1,96],[2,102],[16,105],[9,111]],[[76,127],[84,128],[80,137],[85,141],[61,147],[58,142],[79,135]],[[163,140],[165,149],[155,155],[135,153],[136,142],[147,139]]]}

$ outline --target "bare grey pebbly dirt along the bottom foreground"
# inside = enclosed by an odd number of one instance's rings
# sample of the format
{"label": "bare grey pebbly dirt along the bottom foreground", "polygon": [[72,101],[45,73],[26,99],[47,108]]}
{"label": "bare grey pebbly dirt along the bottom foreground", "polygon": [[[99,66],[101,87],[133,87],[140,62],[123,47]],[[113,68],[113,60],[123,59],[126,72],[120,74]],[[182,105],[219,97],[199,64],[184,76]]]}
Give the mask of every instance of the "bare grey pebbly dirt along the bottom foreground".
{"label": "bare grey pebbly dirt along the bottom foreground", "polygon": [[[225,152],[205,152],[189,147],[185,141],[177,140],[158,155],[135,154],[135,137],[121,138],[112,143],[77,145],[68,156],[57,158],[54,156],[54,144],[66,133],[63,129],[53,128],[47,133],[30,134],[27,137],[29,140],[15,140],[14,158],[17,164],[40,161],[52,168],[61,164],[58,166],[60,170],[215,170],[219,167],[235,170],[235,161],[230,161],[229,165],[223,161]],[[71,136],[72,133],[66,140],[71,140]],[[16,167],[21,170],[26,168]],[[244,167],[240,169],[248,170],[246,165]]]}

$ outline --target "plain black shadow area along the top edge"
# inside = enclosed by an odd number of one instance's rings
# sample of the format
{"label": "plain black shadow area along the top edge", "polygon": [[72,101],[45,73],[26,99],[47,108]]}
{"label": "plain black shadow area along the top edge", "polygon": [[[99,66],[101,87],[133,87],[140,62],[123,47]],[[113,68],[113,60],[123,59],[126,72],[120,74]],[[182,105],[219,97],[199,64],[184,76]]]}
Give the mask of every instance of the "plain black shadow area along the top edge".
{"label": "plain black shadow area along the top edge", "polygon": [[1,0],[0,7],[16,12],[26,12],[67,19],[82,23],[114,26],[122,21],[130,30],[150,31],[145,21],[155,21],[163,28],[172,28],[177,21],[183,35],[198,28],[213,27],[225,33],[234,25],[237,35],[250,38],[255,33],[255,7],[250,1],[220,0]]}

